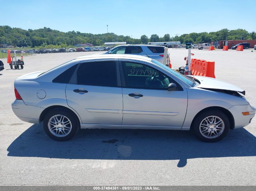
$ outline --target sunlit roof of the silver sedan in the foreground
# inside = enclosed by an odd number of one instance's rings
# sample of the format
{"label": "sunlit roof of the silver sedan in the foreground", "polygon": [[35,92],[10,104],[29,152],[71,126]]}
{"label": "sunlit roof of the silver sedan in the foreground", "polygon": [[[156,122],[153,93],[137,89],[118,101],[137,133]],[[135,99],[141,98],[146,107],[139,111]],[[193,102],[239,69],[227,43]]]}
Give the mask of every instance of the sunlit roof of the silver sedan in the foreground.
{"label": "sunlit roof of the silver sedan in the foreground", "polygon": [[92,54],[92,55],[88,55],[88,56],[80,56],[76,59],[83,59],[83,58],[90,58],[90,59],[97,59],[97,58],[102,58],[102,57],[107,57],[107,58],[125,58],[125,59],[143,59],[143,60],[148,60],[148,61],[151,61],[152,59],[151,58],[148,58],[146,56],[138,56],[138,55],[132,55],[132,54]]}

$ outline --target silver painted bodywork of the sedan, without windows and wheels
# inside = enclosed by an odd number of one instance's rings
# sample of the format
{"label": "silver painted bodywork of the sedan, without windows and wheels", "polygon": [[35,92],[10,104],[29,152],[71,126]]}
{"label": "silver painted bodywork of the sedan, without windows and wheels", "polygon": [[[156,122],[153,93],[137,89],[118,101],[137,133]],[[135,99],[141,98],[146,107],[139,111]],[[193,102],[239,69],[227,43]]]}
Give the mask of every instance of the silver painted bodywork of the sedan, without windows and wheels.
{"label": "silver painted bodywork of the sedan, without windows and wheels", "polygon": [[[77,84],[53,83],[52,80],[71,66],[80,62],[102,59],[129,60],[144,63],[173,78],[183,91],[150,90],[121,87],[99,87]],[[255,107],[244,97],[206,90],[203,88],[242,91],[232,84],[213,78],[195,76],[201,84],[191,87],[165,67],[151,62],[151,58],[136,55],[82,56],[59,65],[48,72],[33,72],[15,80],[14,86],[23,100],[15,100],[12,110],[18,118],[29,123],[40,123],[43,110],[50,106],[63,106],[72,110],[81,128],[131,128],[131,129],[181,129],[189,130],[198,112],[208,107],[222,107],[234,117],[234,128],[248,125],[255,116]],[[215,86],[213,86],[213,83]],[[217,85],[218,84],[218,87]],[[74,89],[84,88],[90,94],[73,94]],[[38,90],[45,91],[40,99]],[[140,93],[138,99],[130,93]],[[247,116],[241,112],[249,112]]]}

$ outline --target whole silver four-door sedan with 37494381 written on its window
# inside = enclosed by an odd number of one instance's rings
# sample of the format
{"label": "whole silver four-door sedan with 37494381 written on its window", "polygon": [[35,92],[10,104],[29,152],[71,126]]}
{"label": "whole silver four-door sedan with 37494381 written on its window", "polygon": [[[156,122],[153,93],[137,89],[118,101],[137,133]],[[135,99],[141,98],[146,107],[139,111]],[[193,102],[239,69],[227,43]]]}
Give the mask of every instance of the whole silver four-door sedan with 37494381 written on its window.
{"label": "whole silver four-door sedan with 37494381 written on its window", "polygon": [[[43,123],[57,141],[79,129],[190,130],[215,142],[248,125],[245,91],[214,78],[184,76],[145,56],[91,55],[15,80],[12,110]],[[169,132],[170,133],[170,132]]]}

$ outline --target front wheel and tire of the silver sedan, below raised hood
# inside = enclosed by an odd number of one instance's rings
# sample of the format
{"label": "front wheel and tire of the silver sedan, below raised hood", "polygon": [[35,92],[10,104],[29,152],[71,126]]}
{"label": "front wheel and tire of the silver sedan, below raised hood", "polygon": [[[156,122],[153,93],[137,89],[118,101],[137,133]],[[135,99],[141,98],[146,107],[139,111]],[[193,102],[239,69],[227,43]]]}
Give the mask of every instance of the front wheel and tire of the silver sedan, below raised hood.
{"label": "front wheel and tire of the silver sedan, below raised hood", "polygon": [[229,128],[229,119],[220,110],[202,112],[194,119],[192,124],[194,134],[203,142],[221,140],[227,135]]}

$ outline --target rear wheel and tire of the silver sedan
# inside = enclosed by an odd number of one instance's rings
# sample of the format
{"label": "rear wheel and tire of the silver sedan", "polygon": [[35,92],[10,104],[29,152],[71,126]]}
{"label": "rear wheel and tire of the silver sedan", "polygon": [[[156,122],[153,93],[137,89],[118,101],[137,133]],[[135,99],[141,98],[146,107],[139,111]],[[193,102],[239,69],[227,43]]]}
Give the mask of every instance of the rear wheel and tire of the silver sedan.
{"label": "rear wheel and tire of the silver sedan", "polygon": [[45,133],[55,141],[67,141],[73,138],[80,129],[80,124],[74,114],[62,108],[49,111],[45,115],[43,126]]}

